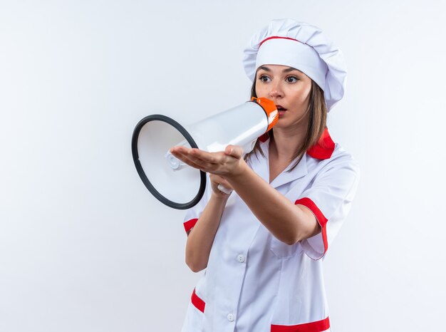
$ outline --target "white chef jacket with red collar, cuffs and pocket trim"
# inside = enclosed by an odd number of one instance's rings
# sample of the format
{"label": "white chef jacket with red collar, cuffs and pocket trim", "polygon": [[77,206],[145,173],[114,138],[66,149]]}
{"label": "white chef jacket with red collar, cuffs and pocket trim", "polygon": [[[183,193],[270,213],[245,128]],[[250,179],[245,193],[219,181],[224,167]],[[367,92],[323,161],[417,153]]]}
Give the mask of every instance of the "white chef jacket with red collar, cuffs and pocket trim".
{"label": "white chef jacket with red collar, cuffs and pocket trim", "polygon": [[[269,182],[269,139],[248,160]],[[331,331],[322,261],[356,192],[359,167],[326,129],[299,164],[291,162],[271,186],[313,212],[321,233],[293,245],[272,235],[237,195],[230,195],[204,275],[187,308],[182,332]],[[187,210],[185,229],[197,222],[211,194]]]}

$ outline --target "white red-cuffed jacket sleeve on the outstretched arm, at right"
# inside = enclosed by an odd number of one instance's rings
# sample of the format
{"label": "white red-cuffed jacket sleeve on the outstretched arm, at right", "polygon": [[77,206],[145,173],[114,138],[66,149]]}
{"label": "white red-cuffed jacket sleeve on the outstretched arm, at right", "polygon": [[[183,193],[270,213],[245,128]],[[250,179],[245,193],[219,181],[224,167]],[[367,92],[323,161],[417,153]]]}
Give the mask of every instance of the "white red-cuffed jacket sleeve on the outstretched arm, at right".
{"label": "white red-cuffed jacket sleeve on the outstretched arm, at right", "polygon": [[311,187],[306,189],[295,204],[313,212],[321,232],[301,241],[304,252],[311,259],[321,259],[338,234],[351,209],[359,181],[359,166],[353,158],[334,160],[324,167]]}

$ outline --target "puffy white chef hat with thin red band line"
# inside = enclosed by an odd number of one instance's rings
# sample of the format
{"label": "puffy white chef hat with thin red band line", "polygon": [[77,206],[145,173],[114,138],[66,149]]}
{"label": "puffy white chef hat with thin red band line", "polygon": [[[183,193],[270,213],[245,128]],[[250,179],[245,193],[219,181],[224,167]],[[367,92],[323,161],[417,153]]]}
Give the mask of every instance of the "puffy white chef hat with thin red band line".
{"label": "puffy white chef hat with thin red band line", "polygon": [[256,69],[267,64],[305,73],[323,90],[328,111],[343,97],[347,76],[343,54],[316,26],[294,19],[271,21],[252,36],[243,59],[251,81]]}

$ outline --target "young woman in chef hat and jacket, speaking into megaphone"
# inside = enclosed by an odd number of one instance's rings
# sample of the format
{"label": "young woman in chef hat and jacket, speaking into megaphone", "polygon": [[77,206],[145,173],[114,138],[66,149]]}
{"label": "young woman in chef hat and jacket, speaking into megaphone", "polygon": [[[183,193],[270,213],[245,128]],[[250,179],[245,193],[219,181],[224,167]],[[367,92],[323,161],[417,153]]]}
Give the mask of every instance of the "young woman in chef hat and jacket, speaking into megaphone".
{"label": "young woman in chef hat and jacket, speaking into megaphone", "polygon": [[331,331],[321,258],[359,177],[357,162],[326,128],[343,97],[343,57],[320,29],[284,19],[251,38],[244,67],[251,95],[279,110],[254,151],[171,150],[211,181],[185,217],[186,263],[206,270],[182,331]]}

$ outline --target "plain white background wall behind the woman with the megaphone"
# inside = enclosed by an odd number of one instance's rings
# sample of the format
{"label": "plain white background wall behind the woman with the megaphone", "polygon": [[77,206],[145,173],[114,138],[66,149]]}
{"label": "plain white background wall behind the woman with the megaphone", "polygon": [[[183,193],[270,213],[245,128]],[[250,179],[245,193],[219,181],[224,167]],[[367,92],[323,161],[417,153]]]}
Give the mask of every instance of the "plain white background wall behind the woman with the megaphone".
{"label": "plain white background wall behind the woman with the megaphone", "polygon": [[[271,19],[343,50],[328,128],[361,165],[324,262],[334,331],[440,331],[446,296],[444,1],[0,1],[0,331],[180,331],[184,212],[133,165],[145,115],[243,103]],[[444,165],[443,165],[444,167]]]}

